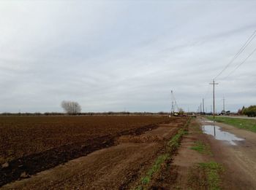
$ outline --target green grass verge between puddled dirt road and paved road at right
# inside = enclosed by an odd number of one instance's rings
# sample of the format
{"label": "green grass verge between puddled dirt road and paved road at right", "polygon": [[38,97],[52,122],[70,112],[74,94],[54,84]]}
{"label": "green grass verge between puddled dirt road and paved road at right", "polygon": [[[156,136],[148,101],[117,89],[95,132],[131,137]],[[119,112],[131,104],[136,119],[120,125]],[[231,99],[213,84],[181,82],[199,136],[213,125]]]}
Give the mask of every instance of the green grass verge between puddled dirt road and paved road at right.
{"label": "green grass verge between puddled dirt road and paved road at right", "polygon": [[[206,116],[206,118],[210,120],[214,120],[213,116]],[[215,121],[222,122],[225,124],[230,124],[239,129],[256,132],[256,119],[240,119],[240,118],[216,116]]]}

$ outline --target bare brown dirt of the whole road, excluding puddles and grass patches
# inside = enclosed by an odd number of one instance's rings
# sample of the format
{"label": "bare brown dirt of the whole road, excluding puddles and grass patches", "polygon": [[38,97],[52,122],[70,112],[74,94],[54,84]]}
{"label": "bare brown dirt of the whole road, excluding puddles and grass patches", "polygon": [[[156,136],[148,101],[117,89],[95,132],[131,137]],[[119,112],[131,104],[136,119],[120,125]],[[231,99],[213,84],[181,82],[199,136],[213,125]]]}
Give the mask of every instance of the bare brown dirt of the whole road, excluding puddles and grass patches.
{"label": "bare brown dirt of the whole road, excluding puddles and grass patches", "polygon": [[[238,141],[237,146],[231,146],[197,130],[200,123],[204,124],[202,120],[205,119],[192,122],[189,135],[181,141],[173,162],[163,167],[154,189],[208,189],[206,173],[198,169],[197,163],[209,161],[218,162],[224,168],[220,173],[221,189],[256,189],[256,133],[217,123],[222,130],[245,139]],[[212,154],[200,154],[190,149],[197,140],[208,144]]]}

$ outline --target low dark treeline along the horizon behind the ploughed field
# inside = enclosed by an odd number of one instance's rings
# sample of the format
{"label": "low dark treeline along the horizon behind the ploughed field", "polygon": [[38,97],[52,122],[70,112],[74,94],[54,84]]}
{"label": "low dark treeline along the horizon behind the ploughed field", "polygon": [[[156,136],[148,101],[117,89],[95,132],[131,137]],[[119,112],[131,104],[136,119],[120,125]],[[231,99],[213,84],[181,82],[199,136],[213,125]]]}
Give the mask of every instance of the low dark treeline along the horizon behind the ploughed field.
{"label": "low dark treeline along the horizon behind the ploughed field", "polygon": [[167,115],[170,113],[167,112],[128,112],[128,111],[121,111],[121,112],[114,112],[114,111],[108,111],[108,112],[86,112],[86,113],[77,113],[77,114],[66,114],[66,113],[59,113],[59,112],[45,112],[45,113],[8,113],[4,112],[1,113],[0,116],[66,116],[66,115],[75,115],[75,116],[94,116],[94,115]]}

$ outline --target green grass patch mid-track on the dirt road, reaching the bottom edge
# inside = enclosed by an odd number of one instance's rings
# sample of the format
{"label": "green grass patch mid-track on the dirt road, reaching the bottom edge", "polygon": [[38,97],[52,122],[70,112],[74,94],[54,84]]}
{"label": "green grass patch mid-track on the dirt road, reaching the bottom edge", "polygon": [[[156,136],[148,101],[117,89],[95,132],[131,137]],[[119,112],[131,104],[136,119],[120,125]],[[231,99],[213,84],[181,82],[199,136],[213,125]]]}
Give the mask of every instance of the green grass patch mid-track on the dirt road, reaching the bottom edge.
{"label": "green grass patch mid-track on the dirt road, reaching the bottom edge", "polygon": [[206,180],[208,183],[209,190],[219,190],[221,189],[220,183],[221,178],[219,173],[223,171],[222,165],[217,162],[203,162],[198,164],[200,169],[204,170],[206,173]]}

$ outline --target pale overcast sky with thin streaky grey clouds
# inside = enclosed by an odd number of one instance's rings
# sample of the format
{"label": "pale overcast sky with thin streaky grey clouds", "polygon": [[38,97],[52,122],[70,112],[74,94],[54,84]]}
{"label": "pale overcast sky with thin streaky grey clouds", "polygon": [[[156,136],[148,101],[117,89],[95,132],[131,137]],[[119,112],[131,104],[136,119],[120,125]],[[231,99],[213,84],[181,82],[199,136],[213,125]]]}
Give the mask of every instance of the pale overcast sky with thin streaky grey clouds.
{"label": "pale overcast sky with thin streaky grey clouds", "polygon": [[[256,1],[0,1],[0,112],[256,104]],[[231,74],[230,74],[231,72]]]}

